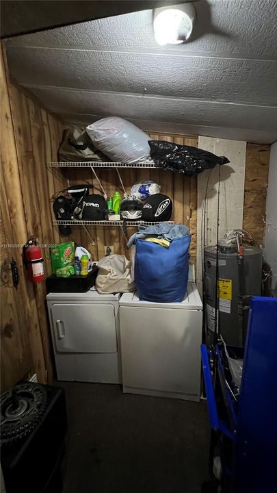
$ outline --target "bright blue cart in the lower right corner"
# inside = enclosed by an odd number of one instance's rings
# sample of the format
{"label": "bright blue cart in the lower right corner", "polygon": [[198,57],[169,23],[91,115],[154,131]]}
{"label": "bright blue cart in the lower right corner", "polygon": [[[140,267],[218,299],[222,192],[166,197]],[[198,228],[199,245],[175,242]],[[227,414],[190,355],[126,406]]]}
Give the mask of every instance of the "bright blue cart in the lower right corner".
{"label": "bright blue cart in the lower right corner", "polygon": [[239,392],[224,346],[217,344],[211,354],[202,344],[201,353],[211,423],[210,471],[219,455],[224,493],[276,493],[277,299],[254,296],[245,349],[228,347],[229,355],[243,358]]}

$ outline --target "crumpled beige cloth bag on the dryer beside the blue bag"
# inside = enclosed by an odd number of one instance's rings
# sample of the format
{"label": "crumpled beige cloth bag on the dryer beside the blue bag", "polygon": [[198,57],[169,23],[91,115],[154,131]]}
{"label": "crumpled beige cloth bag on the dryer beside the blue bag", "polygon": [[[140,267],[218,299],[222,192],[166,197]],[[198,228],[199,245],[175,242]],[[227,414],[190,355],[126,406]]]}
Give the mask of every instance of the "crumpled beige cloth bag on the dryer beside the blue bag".
{"label": "crumpled beige cloth bag on the dryer beside the blue bag", "polygon": [[131,262],[124,255],[107,255],[98,262],[95,286],[100,294],[135,290]]}

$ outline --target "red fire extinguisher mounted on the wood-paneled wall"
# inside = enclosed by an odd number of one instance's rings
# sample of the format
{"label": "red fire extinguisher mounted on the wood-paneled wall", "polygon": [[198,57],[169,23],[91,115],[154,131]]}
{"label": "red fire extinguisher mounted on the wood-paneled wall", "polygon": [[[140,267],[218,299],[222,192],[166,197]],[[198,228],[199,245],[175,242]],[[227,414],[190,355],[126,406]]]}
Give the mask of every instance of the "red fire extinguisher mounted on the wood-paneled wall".
{"label": "red fire extinguisher mounted on the wood-paneled wall", "polygon": [[38,242],[31,236],[24,247],[25,263],[27,266],[27,277],[31,282],[44,280],[42,251],[38,247]]}

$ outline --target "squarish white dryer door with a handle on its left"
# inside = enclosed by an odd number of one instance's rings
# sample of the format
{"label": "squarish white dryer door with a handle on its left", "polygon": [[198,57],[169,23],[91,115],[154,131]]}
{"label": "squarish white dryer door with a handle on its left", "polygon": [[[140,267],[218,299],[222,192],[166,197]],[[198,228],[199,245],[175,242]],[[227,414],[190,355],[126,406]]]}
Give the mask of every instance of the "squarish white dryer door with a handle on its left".
{"label": "squarish white dryer door with a handle on its left", "polygon": [[51,317],[58,352],[116,353],[114,305],[55,303]]}

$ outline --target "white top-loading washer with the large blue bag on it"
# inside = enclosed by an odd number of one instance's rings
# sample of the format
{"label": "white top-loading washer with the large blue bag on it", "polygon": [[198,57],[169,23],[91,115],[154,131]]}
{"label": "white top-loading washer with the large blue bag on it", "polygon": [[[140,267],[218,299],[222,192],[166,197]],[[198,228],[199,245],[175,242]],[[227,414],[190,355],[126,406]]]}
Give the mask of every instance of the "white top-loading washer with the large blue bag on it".
{"label": "white top-loading washer with the large blue bag on it", "polygon": [[120,298],[123,392],[200,400],[202,301],[189,281],[181,303]]}

